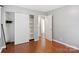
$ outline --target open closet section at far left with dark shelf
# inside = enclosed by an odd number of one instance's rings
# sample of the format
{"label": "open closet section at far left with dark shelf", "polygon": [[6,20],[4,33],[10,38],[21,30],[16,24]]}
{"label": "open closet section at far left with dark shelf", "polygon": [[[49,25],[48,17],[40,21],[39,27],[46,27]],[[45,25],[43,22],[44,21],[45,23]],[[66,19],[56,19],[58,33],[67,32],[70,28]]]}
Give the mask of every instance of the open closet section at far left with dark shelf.
{"label": "open closet section at far left with dark shelf", "polygon": [[15,42],[14,37],[14,20],[15,20],[15,13],[14,12],[6,12],[5,13],[5,26],[6,26],[6,44],[13,44]]}

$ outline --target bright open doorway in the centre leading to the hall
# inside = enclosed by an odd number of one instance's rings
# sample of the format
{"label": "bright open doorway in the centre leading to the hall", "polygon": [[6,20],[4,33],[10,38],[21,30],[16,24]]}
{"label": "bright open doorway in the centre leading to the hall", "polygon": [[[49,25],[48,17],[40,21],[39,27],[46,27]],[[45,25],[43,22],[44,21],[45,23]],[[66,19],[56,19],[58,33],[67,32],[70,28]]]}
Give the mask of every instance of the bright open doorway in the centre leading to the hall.
{"label": "bright open doorway in the centre leading to the hall", "polygon": [[41,16],[40,18],[40,36],[41,36],[41,47],[45,48],[45,17]]}

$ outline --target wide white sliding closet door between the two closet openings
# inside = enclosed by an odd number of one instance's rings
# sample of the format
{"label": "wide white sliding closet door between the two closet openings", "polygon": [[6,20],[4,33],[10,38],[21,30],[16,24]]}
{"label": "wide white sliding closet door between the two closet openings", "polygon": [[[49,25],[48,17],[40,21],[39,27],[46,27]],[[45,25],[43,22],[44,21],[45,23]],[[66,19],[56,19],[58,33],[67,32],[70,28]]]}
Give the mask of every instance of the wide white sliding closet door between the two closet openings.
{"label": "wide white sliding closet door between the two closet openings", "polygon": [[29,41],[29,18],[28,15],[15,13],[15,44]]}

